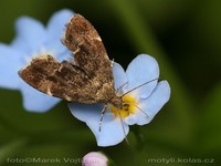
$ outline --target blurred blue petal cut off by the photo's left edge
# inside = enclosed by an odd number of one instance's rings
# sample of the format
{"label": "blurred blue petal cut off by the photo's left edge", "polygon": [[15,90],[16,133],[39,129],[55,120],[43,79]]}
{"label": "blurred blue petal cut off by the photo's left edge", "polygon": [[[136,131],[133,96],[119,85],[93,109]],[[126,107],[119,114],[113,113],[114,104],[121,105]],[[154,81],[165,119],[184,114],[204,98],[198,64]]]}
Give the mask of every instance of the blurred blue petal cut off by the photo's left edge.
{"label": "blurred blue petal cut off by the photo's left edge", "polygon": [[8,45],[0,44],[0,86],[18,89],[21,79],[18,71],[21,68],[21,55]]}

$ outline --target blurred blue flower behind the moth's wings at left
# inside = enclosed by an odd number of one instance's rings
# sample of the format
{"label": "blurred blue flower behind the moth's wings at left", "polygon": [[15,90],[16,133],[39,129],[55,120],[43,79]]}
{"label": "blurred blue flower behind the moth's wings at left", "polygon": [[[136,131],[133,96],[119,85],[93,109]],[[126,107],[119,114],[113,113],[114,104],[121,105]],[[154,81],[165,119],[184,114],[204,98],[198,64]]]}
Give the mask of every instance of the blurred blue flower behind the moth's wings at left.
{"label": "blurred blue flower behind the moth's wings at left", "polygon": [[19,77],[18,71],[36,55],[51,54],[59,62],[71,55],[61,37],[72,15],[73,11],[67,9],[55,12],[46,27],[32,18],[21,17],[15,22],[15,39],[10,45],[0,43],[0,87],[19,90],[27,111],[45,112],[60,102],[32,89]]}

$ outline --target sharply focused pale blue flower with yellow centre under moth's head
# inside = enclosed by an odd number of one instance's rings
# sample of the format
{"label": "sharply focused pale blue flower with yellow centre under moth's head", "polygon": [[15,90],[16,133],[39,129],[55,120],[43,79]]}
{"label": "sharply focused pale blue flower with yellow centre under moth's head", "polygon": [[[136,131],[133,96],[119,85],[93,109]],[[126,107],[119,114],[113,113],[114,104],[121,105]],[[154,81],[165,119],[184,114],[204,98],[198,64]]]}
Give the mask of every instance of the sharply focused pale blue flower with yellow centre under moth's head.
{"label": "sharply focused pale blue flower with yellow centre under moth's head", "polygon": [[[149,55],[138,55],[128,65],[126,72],[119,64],[114,63],[113,73],[115,89],[120,90],[117,91],[119,96],[129,90],[135,90],[123,96],[128,107],[118,110],[112,105],[107,106],[101,131],[99,120],[104,104],[70,103],[72,114],[87,124],[98,146],[120,143],[128,134],[129,125],[148,124],[170,97],[170,86],[167,81],[156,80],[159,77],[159,66],[157,61]],[[144,83],[147,84],[138,87]]]}

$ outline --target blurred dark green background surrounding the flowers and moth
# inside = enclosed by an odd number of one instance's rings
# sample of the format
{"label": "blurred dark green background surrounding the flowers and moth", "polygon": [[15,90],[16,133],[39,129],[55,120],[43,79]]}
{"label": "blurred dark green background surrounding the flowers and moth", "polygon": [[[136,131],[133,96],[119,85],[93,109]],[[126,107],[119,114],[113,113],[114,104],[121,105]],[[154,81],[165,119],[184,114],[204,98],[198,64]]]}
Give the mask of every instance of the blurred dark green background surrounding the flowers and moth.
{"label": "blurred dark green background surrounding the flowers and moth", "polygon": [[4,0],[0,41],[13,39],[18,17],[46,23],[63,8],[90,20],[109,59],[125,69],[139,53],[155,56],[171,100],[150,124],[131,127],[130,146],[102,148],[65,102],[43,114],[29,113],[18,91],[0,89],[0,165],[28,165],[10,160],[25,157],[72,158],[66,165],[81,165],[92,151],[119,166],[166,165],[164,158],[171,160],[167,165],[221,165],[220,0]]}

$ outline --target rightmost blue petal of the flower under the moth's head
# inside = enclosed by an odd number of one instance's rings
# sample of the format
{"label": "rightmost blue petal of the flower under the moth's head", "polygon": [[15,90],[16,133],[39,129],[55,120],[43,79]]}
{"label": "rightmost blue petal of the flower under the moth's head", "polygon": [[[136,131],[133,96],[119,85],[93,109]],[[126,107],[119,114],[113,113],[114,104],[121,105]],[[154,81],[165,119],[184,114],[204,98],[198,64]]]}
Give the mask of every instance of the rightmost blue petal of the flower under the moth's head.
{"label": "rightmost blue petal of the flower under the moth's head", "polygon": [[137,112],[136,118],[138,125],[148,124],[155,115],[161,110],[161,107],[170,98],[170,86],[167,81],[161,81],[157,84],[150,97],[140,100],[139,107],[145,112],[148,117],[141,111]]}

